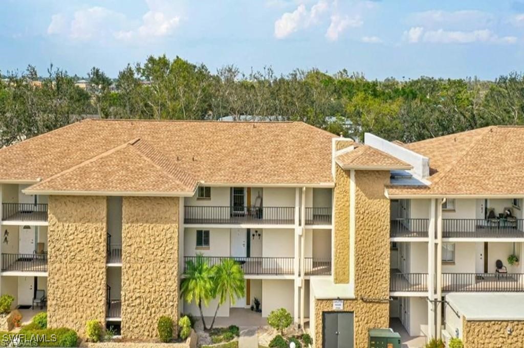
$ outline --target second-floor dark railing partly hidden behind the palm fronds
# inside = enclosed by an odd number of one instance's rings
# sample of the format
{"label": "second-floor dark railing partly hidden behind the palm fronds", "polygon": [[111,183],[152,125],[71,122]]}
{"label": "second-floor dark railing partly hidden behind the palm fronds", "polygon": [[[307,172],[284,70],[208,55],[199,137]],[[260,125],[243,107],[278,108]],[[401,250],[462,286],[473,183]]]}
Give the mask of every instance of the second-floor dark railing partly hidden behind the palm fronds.
{"label": "second-floor dark railing partly hidden behind the palm fronds", "polygon": [[[184,256],[184,273],[188,261],[195,261],[197,256]],[[294,273],[293,257],[233,257],[204,256],[210,266],[220,264],[222,260],[233,259],[241,265],[244,274],[249,275],[288,275]]]}

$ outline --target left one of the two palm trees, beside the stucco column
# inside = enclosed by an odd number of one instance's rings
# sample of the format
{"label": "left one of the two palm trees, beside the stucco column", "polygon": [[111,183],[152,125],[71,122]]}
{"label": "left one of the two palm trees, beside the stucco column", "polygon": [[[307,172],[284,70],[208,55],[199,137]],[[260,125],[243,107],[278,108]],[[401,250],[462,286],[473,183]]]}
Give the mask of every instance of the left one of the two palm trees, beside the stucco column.
{"label": "left one of the two palm trees, beside the stucco column", "polygon": [[[208,306],[209,301],[213,298],[213,279],[214,271],[209,266],[208,259],[203,255],[196,255],[195,260],[189,260],[185,263],[185,278],[180,285],[180,296],[188,303],[192,301],[198,305],[200,309],[200,318],[204,325],[204,330],[207,330],[204,321],[204,312],[202,311],[202,302]],[[216,315],[216,314],[215,314]],[[213,318],[213,322],[214,322]]]}

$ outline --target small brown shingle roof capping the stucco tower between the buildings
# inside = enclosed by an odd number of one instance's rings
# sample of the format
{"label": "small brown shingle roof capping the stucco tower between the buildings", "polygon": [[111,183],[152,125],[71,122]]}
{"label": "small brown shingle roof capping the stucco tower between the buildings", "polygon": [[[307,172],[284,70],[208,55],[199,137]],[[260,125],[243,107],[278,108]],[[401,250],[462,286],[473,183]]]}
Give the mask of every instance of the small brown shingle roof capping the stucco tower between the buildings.
{"label": "small brown shingle roof capping the stucco tower between the buildings", "polygon": [[410,164],[364,144],[355,145],[354,150],[336,156],[335,160],[346,170],[412,169]]}

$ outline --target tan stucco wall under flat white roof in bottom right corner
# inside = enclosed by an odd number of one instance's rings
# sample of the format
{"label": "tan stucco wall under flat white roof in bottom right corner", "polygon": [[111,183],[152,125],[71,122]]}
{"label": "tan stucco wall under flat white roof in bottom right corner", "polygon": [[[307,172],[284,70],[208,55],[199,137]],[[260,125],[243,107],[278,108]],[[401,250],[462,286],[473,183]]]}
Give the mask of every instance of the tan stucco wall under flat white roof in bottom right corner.
{"label": "tan stucco wall under flat white roof in bottom right corner", "polygon": [[[524,321],[463,320],[465,348],[520,348],[524,346]],[[508,334],[507,329],[512,333]]]}

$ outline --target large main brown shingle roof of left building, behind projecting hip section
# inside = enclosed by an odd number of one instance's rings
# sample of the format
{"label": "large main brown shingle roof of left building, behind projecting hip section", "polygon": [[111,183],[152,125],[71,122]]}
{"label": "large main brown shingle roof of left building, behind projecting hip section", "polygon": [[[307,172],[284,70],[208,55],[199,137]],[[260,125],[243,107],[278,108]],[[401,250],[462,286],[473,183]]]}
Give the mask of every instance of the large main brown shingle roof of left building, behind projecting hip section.
{"label": "large main brown shingle roof of left building, behind projecting hip section", "polygon": [[318,185],[333,182],[335,137],[303,122],[84,120],[0,149],[0,181],[46,179],[139,138],[205,183]]}

